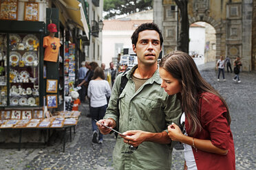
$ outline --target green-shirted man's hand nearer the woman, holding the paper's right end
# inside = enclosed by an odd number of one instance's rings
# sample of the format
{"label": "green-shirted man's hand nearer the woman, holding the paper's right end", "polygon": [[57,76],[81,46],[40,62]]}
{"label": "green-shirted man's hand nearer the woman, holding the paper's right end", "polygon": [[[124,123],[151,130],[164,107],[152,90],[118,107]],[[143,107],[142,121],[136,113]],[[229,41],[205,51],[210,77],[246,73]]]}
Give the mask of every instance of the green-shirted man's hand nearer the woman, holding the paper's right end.
{"label": "green-shirted man's hand nearer the woman, holding the paper's right end", "polygon": [[142,130],[128,130],[127,132],[124,132],[122,134],[127,135],[120,135],[122,138],[124,138],[124,143],[132,145],[134,147],[138,147],[138,145],[146,141],[147,135],[149,135],[150,133],[144,132]]}

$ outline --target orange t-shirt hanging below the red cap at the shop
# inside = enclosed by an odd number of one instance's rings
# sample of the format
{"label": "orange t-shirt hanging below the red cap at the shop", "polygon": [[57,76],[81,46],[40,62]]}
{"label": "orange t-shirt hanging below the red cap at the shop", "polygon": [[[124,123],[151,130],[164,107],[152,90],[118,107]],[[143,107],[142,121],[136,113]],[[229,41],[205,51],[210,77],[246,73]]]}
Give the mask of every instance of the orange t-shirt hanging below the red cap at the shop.
{"label": "orange t-shirt hanging below the red cap at the shop", "polygon": [[45,36],[43,38],[43,47],[45,48],[45,56],[43,60],[48,62],[57,62],[58,49],[61,47],[60,39]]}

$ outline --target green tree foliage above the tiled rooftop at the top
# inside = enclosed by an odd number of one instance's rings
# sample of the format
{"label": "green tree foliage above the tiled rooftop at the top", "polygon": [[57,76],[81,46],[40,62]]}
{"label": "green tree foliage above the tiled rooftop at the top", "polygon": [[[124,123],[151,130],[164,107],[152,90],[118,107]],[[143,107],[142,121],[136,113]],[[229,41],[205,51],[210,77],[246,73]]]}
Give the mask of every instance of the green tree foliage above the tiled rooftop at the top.
{"label": "green tree foliage above the tiled rooftop at the top", "polygon": [[107,13],[105,19],[111,19],[116,15],[133,14],[152,8],[153,0],[104,0],[103,10]]}

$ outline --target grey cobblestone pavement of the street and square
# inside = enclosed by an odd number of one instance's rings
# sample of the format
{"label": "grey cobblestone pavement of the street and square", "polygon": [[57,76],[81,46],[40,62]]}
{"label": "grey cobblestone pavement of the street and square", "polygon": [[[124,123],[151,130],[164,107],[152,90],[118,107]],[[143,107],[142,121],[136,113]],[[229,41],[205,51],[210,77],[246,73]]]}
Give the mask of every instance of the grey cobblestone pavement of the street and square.
{"label": "grey cobblestone pavement of the street and square", "polygon": [[[217,82],[214,63],[198,66],[206,79],[226,100],[231,112],[231,130],[235,142],[236,169],[256,169],[256,73],[240,73],[241,83],[233,82],[233,73],[225,73],[226,82]],[[113,167],[111,154],[115,139],[104,136],[102,145],[92,144],[91,119],[85,117],[88,104],[82,104],[81,120],[70,143],[67,138],[66,151],[62,151],[62,135],[51,140],[52,145],[38,149],[0,149],[0,169],[107,169]],[[183,151],[173,151],[173,168],[182,169]]]}

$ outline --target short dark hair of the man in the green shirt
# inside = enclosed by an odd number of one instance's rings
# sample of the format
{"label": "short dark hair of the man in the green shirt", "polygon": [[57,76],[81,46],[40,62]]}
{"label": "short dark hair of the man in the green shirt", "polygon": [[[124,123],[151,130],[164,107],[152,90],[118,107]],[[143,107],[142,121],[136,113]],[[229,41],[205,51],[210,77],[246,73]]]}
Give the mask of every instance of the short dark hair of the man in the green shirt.
{"label": "short dark hair of the man in the green shirt", "polygon": [[155,30],[156,32],[158,32],[159,37],[160,37],[160,45],[162,47],[162,42],[164,41],[162,38],[162,33],[158,27],[158,25],[156,25],[156,23],[142,23],[142,25],[140,25],[135,31],[134,34],[132,34],[131,36],[131,43],[133,45],[136,46],[136,43],[138,41],[138,34],[140,32],[143,32],[145,30]]}

